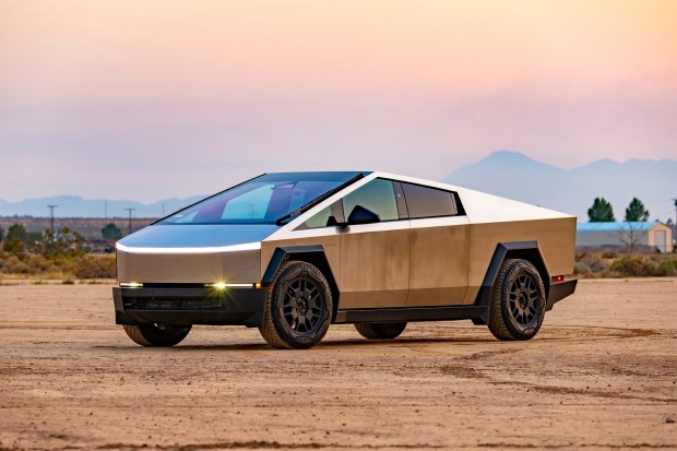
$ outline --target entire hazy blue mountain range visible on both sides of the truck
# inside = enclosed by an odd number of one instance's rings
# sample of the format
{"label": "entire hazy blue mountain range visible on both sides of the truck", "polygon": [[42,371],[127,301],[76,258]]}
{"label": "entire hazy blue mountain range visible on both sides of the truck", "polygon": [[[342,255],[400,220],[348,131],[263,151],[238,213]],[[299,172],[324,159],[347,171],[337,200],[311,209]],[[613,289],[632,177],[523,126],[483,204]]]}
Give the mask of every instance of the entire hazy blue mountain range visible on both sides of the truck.
{"label": "entire hazy blue mountain range visible on both sides of the truck", "polygon": [[[611,202],[618,221],[632,198],[639,198],[651,219],[674,217],[677,198],[677,161],[629,159],[617,163],[601,159],[573,169],[541,163],[519,152],[494,152],[477,163],[452,171],[443,181],[460,187],[533,203],[579,216],[587,221],[593,200]],[[124,209],[134,209],[134,217],[161,217],[204,198],[164,199],[152,204],[129,200],[86,200],[78,195],[27,199],[8,202],[0,199],[0,216],[47,216],[48,204],[58,205],[55,215],[84,217],[126,217]]]}

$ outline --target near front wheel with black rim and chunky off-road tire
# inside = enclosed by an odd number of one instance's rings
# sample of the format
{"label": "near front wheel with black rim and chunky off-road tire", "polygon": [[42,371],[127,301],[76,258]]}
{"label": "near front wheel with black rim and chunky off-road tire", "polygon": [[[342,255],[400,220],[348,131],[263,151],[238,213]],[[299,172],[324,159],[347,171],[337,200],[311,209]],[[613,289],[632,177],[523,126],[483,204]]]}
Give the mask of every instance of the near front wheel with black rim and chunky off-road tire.
{"label": "near front wheel with black rim and chunky off-road tire", "polygon": [[324,274],[304,261],[280,266],[265,298],[259,332],[278,349],[307,349],[326,334],[333,309]]}

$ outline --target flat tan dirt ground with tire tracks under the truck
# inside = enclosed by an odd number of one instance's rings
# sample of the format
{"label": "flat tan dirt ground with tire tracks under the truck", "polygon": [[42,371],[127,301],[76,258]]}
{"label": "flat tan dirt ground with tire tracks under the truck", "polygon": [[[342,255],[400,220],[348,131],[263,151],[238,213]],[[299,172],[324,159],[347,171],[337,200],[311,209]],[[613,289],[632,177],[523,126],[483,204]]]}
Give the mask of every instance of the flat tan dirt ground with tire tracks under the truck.
{"label": "flat tan dirt ground with tire tracks under the truck", "polygon": [[582,281],[530,342],[468,321],[309,351],[143,348],[110,285],[0,286],[0,450],[677,449],[677,278]]}

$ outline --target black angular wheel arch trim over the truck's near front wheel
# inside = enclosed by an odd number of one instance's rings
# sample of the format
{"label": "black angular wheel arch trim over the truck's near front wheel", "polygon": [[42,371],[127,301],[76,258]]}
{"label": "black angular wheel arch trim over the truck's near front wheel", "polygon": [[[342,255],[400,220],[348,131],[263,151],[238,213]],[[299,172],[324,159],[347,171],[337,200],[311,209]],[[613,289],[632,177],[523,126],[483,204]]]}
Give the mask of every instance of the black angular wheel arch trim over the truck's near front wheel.
{"label": "black angular wheel arch trim over the truck's near front wheel", "polygon": [[329,288],[332,292],[333,298],[333,311],[332,311],[332,322],[334,322],[336,318],[336,310],[339,308],[339,297],[341,293],[339,292],[339,285],[336,284],[336,280],[332,272],[331,266],[329,265],[329,260],[326,260],[326,256],[324,254],[324,248],[321,245],[311,245],[311,246],[292,246],[292,247],[280,247],[276,248],[273,252],[273,257],[271,258],[268,266],[265,269],[265,273],[263,273],[263,278],[261,280],[261,284],[263,286],[270,285],[277,273],[277,270],[282,265],[282,263],[286,261],[305,261],[324,274],[326,282],[329,282]]}

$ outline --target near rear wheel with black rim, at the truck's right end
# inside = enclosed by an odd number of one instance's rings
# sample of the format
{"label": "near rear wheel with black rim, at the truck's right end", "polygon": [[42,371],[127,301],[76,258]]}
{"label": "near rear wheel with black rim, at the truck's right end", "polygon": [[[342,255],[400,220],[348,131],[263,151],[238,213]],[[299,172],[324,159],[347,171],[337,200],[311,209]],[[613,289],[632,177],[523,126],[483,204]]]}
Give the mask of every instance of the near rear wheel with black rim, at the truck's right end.
{"label": "near rear wheel with black rim, at the truck's right end", "polygon": [[533,339],[545,316],[545,287],[528,261],[509,259],[501,264],[491,290],[489,330],[498,340]]}

